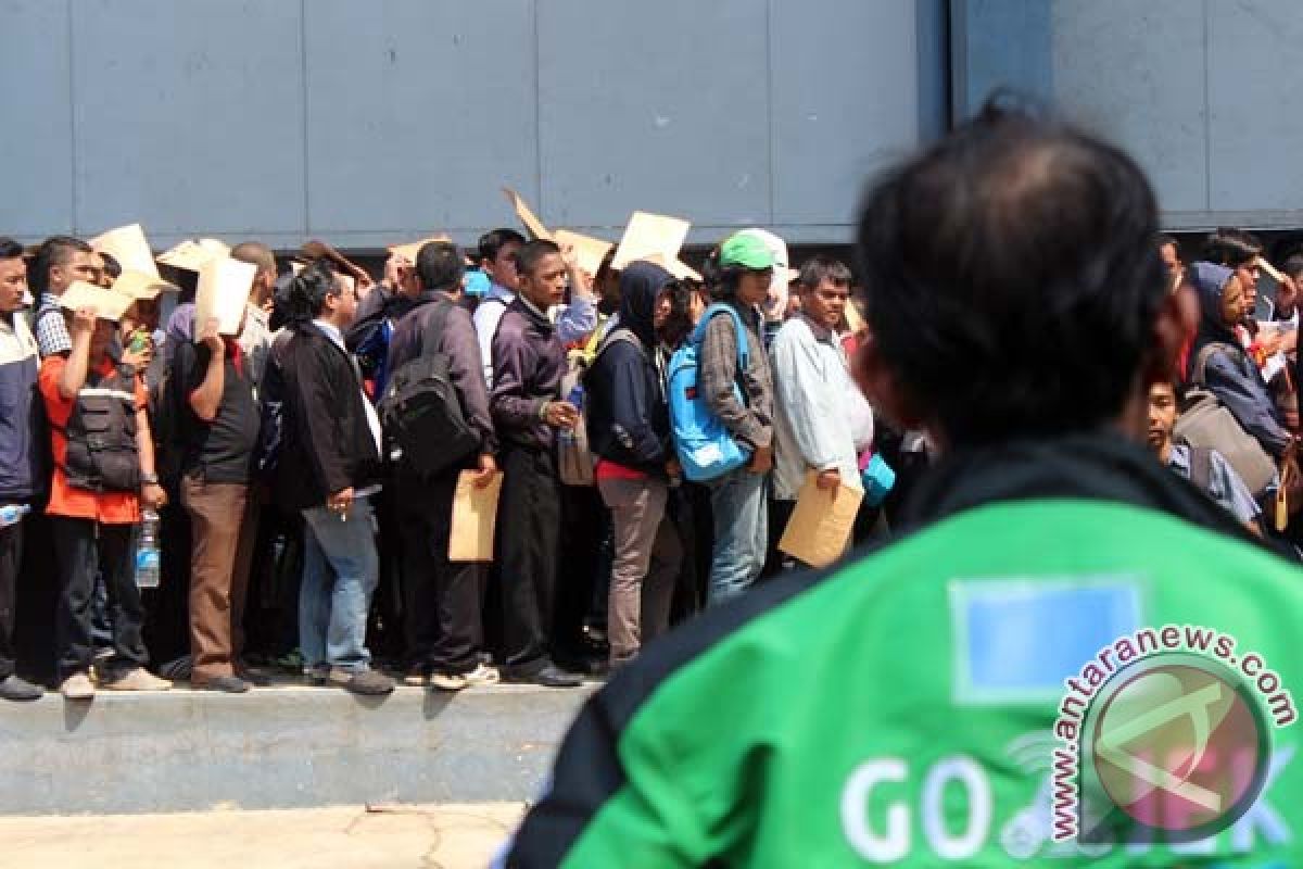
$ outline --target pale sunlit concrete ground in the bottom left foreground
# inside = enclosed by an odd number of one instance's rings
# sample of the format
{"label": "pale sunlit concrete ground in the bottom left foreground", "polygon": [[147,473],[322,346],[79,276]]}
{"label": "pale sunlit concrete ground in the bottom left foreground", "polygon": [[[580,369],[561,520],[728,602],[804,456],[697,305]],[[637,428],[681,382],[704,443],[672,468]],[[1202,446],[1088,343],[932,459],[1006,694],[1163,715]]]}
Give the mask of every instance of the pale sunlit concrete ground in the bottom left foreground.
{"label": "pale sunlit concrete ground in the bottom left foreground", "polygon": [[483,866],[520,803],[0,818],[14,869],[461,869]]}

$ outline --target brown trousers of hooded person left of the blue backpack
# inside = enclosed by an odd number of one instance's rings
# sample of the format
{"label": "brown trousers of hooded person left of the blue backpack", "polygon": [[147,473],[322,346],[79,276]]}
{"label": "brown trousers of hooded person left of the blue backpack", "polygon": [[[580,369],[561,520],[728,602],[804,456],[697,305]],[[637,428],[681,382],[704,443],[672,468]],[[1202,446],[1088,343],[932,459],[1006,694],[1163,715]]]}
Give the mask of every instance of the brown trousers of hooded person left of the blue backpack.
{"label": "brown trousers of hooded person left of the blue backpack", "polygon": [[638,648],[670,627],[670,605],[683,565],[683,545],[665,515],[668,487],[659,479],[601,479],[611,511],[615,560],[606,633],[611,663],[632,661]]}

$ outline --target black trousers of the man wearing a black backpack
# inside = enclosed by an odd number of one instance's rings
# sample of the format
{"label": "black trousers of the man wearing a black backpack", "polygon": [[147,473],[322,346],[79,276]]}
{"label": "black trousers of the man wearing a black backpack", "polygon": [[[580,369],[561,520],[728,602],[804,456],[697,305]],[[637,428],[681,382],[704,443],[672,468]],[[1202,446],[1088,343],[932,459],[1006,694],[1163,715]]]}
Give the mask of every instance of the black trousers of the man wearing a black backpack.
{"label": "black trousers of the man wearing a black backpack", "polygon": [[485,567],[448,560],[456,487],[456,470],[427,483],[399,481],[396,499],[408,658],[443,674],[474,670],[483,646]]}

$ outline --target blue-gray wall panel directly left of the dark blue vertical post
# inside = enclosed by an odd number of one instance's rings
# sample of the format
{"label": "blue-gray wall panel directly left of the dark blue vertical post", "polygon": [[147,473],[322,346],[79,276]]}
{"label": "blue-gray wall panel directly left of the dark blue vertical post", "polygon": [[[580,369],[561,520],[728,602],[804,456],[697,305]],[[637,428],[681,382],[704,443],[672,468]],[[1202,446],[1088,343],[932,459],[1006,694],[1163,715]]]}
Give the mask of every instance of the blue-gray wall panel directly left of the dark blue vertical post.
{"label": "blue-gray wall panel directly left of the dark blue vertical post", "polygon": [[865,178],[919,142],[915,4],[771,8],[774,223],[851,224]]}

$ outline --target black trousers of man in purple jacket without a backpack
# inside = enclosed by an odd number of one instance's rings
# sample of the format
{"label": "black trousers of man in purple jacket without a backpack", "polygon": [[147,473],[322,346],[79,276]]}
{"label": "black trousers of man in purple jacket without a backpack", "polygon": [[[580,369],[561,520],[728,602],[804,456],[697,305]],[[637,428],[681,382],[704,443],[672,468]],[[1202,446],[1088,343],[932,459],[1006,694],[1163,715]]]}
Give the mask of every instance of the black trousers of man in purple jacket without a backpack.
{"label": "black trousers of man in purple jacket without a backpack", "polygon": [[498,504],[503,664],[529,675],[551,661],[562,494],[549,452],[508,447]]}

